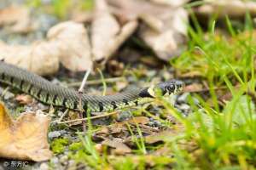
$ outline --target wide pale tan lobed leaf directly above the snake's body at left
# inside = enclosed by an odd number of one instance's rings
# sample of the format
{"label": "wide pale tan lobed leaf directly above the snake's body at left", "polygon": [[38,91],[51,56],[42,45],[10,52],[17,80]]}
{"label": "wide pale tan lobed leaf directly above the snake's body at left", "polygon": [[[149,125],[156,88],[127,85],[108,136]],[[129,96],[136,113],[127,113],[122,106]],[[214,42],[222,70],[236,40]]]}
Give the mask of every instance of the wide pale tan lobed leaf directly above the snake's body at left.
{"label": "wide pale tan lobed leaf directly above the snake's body at left", "polygon": [[73,21],[52,27],[48,40],[31,45],[8,45],[0,42],[0,59],[25,68],[38,75],[54,74],[59,62],[71,71],[85,71],[92,67],[90,43],[82,24]]}

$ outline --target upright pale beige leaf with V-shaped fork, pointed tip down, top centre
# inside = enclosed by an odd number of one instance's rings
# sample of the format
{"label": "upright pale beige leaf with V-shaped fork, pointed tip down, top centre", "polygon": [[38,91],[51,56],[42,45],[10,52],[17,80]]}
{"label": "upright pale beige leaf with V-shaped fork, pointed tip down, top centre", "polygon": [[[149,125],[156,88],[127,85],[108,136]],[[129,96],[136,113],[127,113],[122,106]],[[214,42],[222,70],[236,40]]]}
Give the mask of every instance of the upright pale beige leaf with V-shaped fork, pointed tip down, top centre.
{"label": "upright pale beige leaf with V-shaped fork, pointed tip down, top centre", "polygon": [[92,55],[102,65],[137,28],[137,21],[125,22],[123,26],[110,13],[105,0],[97,0],[94,20],[91,24]]}

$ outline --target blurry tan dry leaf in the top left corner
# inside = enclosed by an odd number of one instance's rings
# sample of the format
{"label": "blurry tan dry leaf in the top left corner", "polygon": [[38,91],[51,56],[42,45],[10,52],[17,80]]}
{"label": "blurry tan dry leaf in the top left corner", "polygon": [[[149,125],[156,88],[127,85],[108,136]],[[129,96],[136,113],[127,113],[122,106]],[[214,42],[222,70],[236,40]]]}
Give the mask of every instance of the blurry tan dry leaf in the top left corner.
{"label": "blurry tan dry leaf in the top left corner", "polygon": [[26,33],[35,29],[29,10],[23,6],[10,6],[0,10],[0,26],[12,25],[10,31]]}

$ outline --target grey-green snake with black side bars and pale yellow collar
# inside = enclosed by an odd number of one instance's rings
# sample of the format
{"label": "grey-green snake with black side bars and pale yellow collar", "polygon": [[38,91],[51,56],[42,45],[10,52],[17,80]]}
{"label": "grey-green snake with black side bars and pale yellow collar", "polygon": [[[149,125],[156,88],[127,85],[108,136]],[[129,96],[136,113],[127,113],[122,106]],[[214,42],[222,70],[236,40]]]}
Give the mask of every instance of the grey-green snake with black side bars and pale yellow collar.
{"label": "grey-green snake with black side bars and pale yellow collar", "polygon": [[0,82],[20,89],[20,91],[30,94],[44,104],[72,110],[79,110],[81,105],[84,111],[90,109],[91,112],[115,111],[149,102],[150,99],[154,99],[156,88],[160,89],[162,94],[165,95],[176,94],[183,88],[183,82],[172,80],[160,82],[149,88],[140,88],[113,95],[79,94],[73,89],[55,85],[43,77],[20,69],[15,65],[6,64],[3,61],[0,61]]}

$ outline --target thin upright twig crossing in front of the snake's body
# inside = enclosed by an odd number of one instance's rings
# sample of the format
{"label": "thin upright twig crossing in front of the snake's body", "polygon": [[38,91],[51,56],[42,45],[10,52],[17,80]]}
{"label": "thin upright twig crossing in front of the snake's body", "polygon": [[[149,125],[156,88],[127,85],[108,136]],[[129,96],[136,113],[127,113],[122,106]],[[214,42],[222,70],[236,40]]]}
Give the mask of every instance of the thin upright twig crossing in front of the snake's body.
{"label": "thin upright twig crossing in front of the snake's body", "polygon": [[[89,69],[88,71],[85,72],[83,81],[82,81],[81,86],[80,86],[80,88],[79,88],[79,116],[82,117],[82,119],[83,119],[83,117],[84,117],[84,116],[83,116],[84,109],[83,109],[83,107],[82,107],[82,94],[83,94],[83,92],[84,92],[84,86],[85,86],[85,84],[86,84],[86,81],[87,81],[87,79],[88,79],[88,77],[89,77],[89,75],[90,75],[90,71],[91,71],[91,70]],[[84,122],[84,121],[82,121],[82,126],[83,126],[83,131],[84,131],[84,133],[85,133],[85,131],[86,131],[86,125],[85,125],[85,122]]]}

